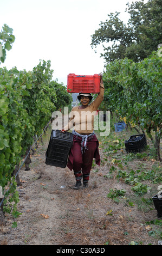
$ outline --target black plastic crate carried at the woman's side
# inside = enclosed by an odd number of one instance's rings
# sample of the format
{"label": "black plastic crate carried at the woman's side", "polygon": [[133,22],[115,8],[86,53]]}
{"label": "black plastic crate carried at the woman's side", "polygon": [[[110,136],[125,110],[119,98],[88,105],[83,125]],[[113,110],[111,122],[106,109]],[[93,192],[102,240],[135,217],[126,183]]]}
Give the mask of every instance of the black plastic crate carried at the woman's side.
{"label": "black plastic crate carried at the woman's side", "polygon": [[65,168],[70,148],[73,144],[73,135],[70,132],[52,130],[46,152],[46,164]]}

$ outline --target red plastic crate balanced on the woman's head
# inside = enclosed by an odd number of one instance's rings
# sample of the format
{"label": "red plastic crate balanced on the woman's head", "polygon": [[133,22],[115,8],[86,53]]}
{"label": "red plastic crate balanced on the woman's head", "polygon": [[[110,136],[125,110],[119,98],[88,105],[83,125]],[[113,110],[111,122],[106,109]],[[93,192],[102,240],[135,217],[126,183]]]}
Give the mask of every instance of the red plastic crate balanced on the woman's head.
{"label": "red plastic crate balanced on the woman's head", "polygon": [[99,93],[100,76],[81,76],[75,74],[68,75],[68,93]]}

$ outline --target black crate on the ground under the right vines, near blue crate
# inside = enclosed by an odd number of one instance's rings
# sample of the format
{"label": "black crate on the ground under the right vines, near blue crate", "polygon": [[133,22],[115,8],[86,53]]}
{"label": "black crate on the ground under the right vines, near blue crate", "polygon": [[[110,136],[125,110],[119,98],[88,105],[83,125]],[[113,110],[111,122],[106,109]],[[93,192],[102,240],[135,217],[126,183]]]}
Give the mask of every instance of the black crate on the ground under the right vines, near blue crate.
{"label": "black crate on the ground under the right vines, near blue crate", "polygon": [[147,145],[145,134],[132,135],[129,137],[127,141],[125,141],[125,147],[127,153],[133,152],[138,153],[141,152]]}

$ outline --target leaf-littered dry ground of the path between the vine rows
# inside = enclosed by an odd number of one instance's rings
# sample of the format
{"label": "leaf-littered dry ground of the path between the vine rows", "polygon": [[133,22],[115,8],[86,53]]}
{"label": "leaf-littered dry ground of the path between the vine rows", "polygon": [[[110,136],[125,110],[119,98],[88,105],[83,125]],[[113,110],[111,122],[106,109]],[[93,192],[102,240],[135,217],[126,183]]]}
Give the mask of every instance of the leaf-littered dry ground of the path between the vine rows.
{"label": "leaf-littered dry ground of the path between the vine rows", "polygon": [[[20,172],[22,215],[5,215],[0,244],[158,245],[162,220],[152,197],[161,184],[161,163],[154,159],[152,143],[147,141],[140,154],[127,154],[124,141],[137,132],[115,133],[111,123],[110,135],[98,136],[101,166],[93,164],[86,190],[74,191],[73,172],[45,164],[50,131],[31,156],[30,170]],[[142,186],[133,191],[139,182]]]}

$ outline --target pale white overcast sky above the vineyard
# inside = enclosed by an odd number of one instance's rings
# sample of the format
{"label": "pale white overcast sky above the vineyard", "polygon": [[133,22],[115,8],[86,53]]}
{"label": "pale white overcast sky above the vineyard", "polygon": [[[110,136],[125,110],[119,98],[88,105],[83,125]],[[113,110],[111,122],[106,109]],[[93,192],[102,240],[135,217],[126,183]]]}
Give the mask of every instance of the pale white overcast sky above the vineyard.
{"label": "pale white overcast sky above the vineyard", "polygon": [[[136,0],[139,1],[139,0]],[[90,46],[92,35],[108,14],[120,12],[127,23],[126,3],[131,0],[0,0],[0,31],[13,29],[15,42],[4,64],[11,69],[33,70],[50,60],[53,80],[67,85],[67,76],[103,72],[102,46]],[[134,1],[135,2],[135,1]],[[147,1],[145,1],[147,2]]]}

